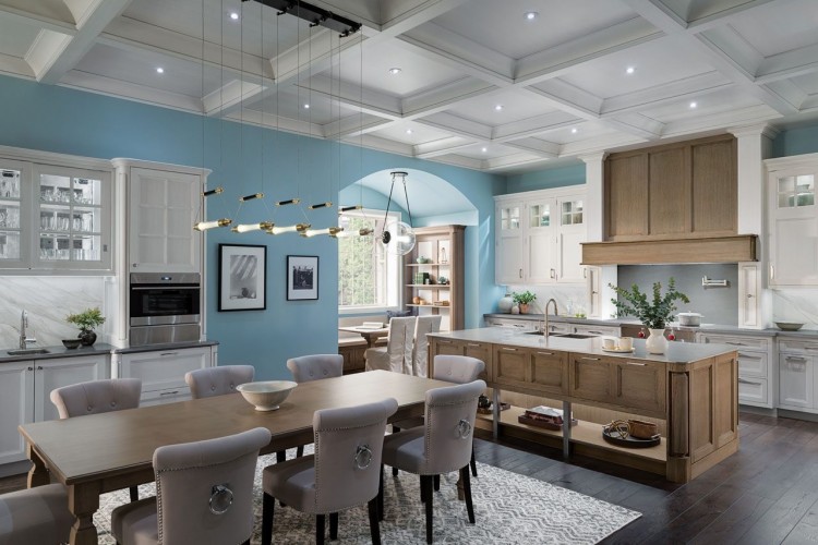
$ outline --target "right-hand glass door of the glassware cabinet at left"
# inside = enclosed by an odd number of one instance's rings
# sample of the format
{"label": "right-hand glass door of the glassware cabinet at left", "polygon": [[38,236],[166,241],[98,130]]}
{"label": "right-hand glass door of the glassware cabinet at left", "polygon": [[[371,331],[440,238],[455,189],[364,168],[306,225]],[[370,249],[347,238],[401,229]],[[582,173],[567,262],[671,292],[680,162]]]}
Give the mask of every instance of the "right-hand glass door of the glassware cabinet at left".
{"label": "right-hand glass door of the glassware cabinet at left", "polygon": [[40,172],[39,262],[103,261],[103,181],[82,171]]}

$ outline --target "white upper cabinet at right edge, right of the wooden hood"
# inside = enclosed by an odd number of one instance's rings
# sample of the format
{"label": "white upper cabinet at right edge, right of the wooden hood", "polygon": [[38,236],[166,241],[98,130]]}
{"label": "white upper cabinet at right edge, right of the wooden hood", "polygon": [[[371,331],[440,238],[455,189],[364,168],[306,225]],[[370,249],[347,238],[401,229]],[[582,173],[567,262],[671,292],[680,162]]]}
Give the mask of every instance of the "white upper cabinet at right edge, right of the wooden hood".
{"label": "white upper cabinet at right edge, right of the wooden hood", "polygon": [[818,154],[765,161],[771,288],[818,286]]}

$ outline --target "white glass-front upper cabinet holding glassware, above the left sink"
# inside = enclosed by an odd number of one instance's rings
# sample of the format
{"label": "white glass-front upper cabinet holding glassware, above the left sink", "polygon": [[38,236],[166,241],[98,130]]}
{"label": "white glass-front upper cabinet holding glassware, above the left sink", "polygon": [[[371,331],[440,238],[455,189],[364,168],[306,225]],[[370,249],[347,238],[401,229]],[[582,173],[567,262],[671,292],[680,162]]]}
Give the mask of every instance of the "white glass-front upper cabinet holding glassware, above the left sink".
{"label": "white glass-front upper cabinet holding glassware, above the left sink", "polygon": [[111,171],[0,158],[0,268],[111,270]]}

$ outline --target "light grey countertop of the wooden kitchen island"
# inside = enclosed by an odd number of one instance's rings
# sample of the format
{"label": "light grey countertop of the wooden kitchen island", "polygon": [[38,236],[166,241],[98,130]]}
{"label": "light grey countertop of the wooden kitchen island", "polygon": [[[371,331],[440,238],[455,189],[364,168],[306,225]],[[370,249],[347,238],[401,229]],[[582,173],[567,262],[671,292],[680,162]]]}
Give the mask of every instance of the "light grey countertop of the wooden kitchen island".
{"label": "light grey countertop of the wooden kitchen island", "polygon": [[454,339],[469,342],[485,342],[490,344],[505,344],[508,347],[520,347],[530,349],[551,349],[563,352],[580,352],[584,354],[622,356],[639,359],[661,363],[689,364],[699,360],[714,358],[735,351],[735,347],[729,344],[697,344],[693,342],[667,342],[667,352],[664,354],[649,354],[645,348],[645,339],[634,339],[634,352],[612,352],[602,349],[602,337],[589,339],[572,339],[550,335],[529,335],[526,332],[509,330],[502,327],[481,327],[476,329],[461,329],[458,331],[430,332],[429,337],[440,339]]}

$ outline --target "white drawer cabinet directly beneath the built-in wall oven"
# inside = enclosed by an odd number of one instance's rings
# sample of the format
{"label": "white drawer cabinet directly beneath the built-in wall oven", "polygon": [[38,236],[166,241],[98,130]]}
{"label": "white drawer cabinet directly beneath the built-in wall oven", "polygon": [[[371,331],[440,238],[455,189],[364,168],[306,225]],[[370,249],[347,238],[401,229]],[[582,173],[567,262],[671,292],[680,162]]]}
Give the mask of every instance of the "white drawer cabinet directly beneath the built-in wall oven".
{"label": "white drawer cabinet directly beneath the built-in wall oven", "polygon": [[214,365],[210,347],[124,353],[118,358],[117,376],[142,380],[142,407],[191,399],[184,374]]}

